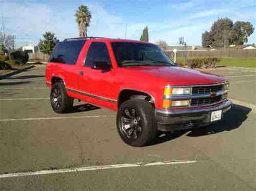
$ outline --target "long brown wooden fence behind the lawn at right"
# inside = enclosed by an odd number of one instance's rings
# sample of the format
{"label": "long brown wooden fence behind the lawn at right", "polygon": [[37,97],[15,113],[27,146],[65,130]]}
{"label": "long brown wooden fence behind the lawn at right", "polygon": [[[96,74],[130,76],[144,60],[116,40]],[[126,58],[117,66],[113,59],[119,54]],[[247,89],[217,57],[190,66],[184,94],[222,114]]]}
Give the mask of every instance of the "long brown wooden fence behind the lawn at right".
{"label": "long brown wooden fence behind the lawn at right", "polygon": [[[174,57],[174,53],[172,51],[166,51],[166,54],[170,57]],[[256,57],[256,49],[218,49],[216,51],[178,51],[177,57],[185,57],[193,58],[193,57],[246,57],[246,58],[255,58]]]}

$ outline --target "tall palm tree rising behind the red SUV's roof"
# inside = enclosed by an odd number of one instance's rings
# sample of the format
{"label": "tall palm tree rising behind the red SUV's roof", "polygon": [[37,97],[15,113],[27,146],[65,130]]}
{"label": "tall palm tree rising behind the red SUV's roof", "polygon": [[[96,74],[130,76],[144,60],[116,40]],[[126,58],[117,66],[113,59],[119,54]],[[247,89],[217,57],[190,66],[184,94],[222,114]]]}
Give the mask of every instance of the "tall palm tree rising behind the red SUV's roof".
{"label": "tall palm tree rising behind the red SUV's roof", "polygon": [[75,16],[78,24],[79,37],[87,37],[87,27],[90,26],[92,17],[91,12],[86,5],[80,5]]}

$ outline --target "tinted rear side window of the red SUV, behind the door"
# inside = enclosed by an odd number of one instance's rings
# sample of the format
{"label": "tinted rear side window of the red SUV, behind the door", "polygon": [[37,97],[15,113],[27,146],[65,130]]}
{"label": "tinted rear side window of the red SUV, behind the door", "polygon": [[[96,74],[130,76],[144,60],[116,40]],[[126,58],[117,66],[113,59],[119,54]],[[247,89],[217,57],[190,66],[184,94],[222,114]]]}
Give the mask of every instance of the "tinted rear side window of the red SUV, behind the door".
{"label": "tinted rear side window of the red SUV, behind the door", "polygon": [[70,40],[58,43],[53,49],[49,61],[75,65],[84,43],[85,40]]}

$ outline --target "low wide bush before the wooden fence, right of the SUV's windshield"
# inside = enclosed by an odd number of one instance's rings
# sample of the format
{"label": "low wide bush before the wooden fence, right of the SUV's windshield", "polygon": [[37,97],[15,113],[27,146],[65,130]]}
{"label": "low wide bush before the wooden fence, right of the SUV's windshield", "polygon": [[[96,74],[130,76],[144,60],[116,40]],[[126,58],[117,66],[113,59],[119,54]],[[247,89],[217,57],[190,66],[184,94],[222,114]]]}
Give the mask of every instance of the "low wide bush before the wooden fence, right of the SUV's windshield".
{"label": "low wide bush before the wooden fence, right of the SUV's windshield", "polygon": [[215,68],[219,62],[219,58],[192,58],[186,61],[186,65],[191,68]]}

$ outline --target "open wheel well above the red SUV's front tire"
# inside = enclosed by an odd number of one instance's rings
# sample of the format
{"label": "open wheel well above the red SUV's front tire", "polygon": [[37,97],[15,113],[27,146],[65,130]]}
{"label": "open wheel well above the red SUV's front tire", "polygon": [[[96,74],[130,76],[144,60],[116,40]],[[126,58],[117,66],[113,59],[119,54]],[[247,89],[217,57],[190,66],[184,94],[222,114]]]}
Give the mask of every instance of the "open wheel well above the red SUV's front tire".
{"label": "open wheel well above the red SUV's front tire", "polygon": [[146,100],[154,105],[154,98],[151,95],[142,91],[124,89],[118,96],[118,108],[122,103],[133,98]]}

